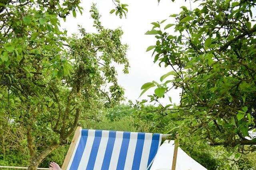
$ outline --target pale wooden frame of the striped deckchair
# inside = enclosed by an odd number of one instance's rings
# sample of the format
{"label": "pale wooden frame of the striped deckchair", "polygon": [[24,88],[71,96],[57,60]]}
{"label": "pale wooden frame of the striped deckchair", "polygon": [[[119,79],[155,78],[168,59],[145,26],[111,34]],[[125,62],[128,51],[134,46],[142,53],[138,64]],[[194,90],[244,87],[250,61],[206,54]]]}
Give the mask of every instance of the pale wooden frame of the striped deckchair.
{"label": "pale wooden frame of the striped deckchair", "polygon": [[[68,148],[68,152],[67,152],[66,157],[64,159],[64,162],[62,164],[62,167],[61,167],[62,170],[66,170],[68,168],[68,164],[70,162],[72,153],[74,152],[74,149],[75,149],[75,146],[76,146],[76,142],[78,141],[78,136],[80,136],[81,130],[82,130],[82,127],[77,127],[76,128],[75,134],[74,134],[74,136],[72,138],[71,144],[70,144],[70,146]],[[168,136],[170,136],[170,134],[163,134],[162,135],[162,140],[165,140]],[[176,144],[175,144],[175,146],[176,146]],[[176,158],[177,158],[177,151],[178,151],[178,147],[177,147],[176,151],[174,149],[174,156],[176,155],[175,156]],[[176,158],[175,158],[175,166],[176,166]],[[174,164],[174,162],[172,164]],[[175,170],[175,167],[172,170]]]}

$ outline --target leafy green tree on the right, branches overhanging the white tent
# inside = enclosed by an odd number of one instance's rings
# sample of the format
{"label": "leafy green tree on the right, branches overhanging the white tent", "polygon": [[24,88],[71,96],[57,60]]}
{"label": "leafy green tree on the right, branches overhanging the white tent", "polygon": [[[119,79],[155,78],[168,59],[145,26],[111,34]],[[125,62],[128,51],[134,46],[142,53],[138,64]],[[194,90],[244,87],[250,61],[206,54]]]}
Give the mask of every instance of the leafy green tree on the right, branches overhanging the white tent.
{"label": "leafy green tree on the right, branches overhanging the white tent", "polygon": [[[255,5],[255,0],[203,0],[194,10],[182,6],[180,14],[170,15],[175,24],[161,29],[166,20],[153,22],[146,32],[157,39],[147,49],[154,49],[154,63],[172,71],[160,83],[145,83],[142,94],[156,87],[150,97],[158,101],[173,88],[182,89],[179,107],[162,110],[181,110],[178,117],[190,132],[241,153],[256,150],[256,137],[250,135],[256,123]],[[174,34],[167,32],[170,27]]]}

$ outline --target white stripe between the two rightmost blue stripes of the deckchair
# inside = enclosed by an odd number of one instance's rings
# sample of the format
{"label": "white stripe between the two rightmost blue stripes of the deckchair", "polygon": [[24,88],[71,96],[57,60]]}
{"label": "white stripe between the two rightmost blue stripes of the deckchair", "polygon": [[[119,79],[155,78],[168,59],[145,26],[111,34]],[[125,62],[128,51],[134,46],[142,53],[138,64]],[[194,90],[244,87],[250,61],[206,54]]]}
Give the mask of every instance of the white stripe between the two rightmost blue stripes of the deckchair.
{"label": "white stripe between the two rightmost blue stripes of the deckchair", "polygon": [[150,152],[150,146],[152,142],[152,133],[145,133],[145,140],[140,160],[140,170],[146,170],[148,166],[148,156]]}

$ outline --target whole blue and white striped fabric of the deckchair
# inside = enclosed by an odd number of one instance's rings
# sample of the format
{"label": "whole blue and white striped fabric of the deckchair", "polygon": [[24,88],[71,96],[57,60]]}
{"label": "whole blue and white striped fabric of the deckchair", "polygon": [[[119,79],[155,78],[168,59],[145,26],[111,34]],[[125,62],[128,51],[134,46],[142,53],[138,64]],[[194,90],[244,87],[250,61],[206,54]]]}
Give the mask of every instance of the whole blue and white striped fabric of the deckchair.
{"label": "whole blue and white striped fabric of the deckchair", "polygon": [[82,129],[67,170],[147,170],[162,134]]}

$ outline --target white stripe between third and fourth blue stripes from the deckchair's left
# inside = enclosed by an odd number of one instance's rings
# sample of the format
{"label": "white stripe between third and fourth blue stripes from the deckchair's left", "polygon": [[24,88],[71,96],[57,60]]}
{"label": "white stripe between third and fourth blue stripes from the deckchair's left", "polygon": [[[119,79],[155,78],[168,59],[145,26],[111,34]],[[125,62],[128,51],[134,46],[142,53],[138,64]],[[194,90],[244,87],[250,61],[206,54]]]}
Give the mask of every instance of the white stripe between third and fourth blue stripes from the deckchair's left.
{"label": "white stripe between third and fourth blue stripes from the deckchair's left", "polygon": [[114,143],[113,152],[112,152],[112,156],[111,156],[111,160],[108,168],[109,170],[116,170],[120,149],[122,145],[123,133],[124,132],[119,132],[119,131],[116,132],[116,140]]}

